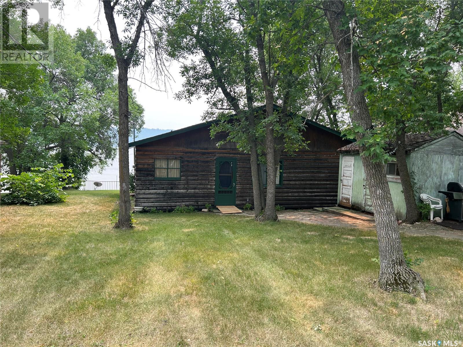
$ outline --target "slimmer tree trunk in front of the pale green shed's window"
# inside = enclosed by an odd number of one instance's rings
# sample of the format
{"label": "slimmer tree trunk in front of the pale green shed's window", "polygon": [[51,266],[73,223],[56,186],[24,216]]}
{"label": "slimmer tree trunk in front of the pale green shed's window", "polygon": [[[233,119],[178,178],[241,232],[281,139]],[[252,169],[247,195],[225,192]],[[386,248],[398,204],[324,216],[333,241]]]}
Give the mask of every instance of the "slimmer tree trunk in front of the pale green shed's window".
{"label": "slimmer tree trunk in front of the pale green shed's window", "polygon": [[397,167],[399,167],[400,181],[402,183],[402,190],[404,192],[405,205],[407,207],[407,216],[405,218],[405,222],[413,224],[418,222],[421,219],[421,216],[416,204],[412,180],[408,172],[407,157],[405,153],[405,127],[401,127],[400,129],[398,126],[397,131],[397,149],[395,150],[395,157],[397,159]]}

